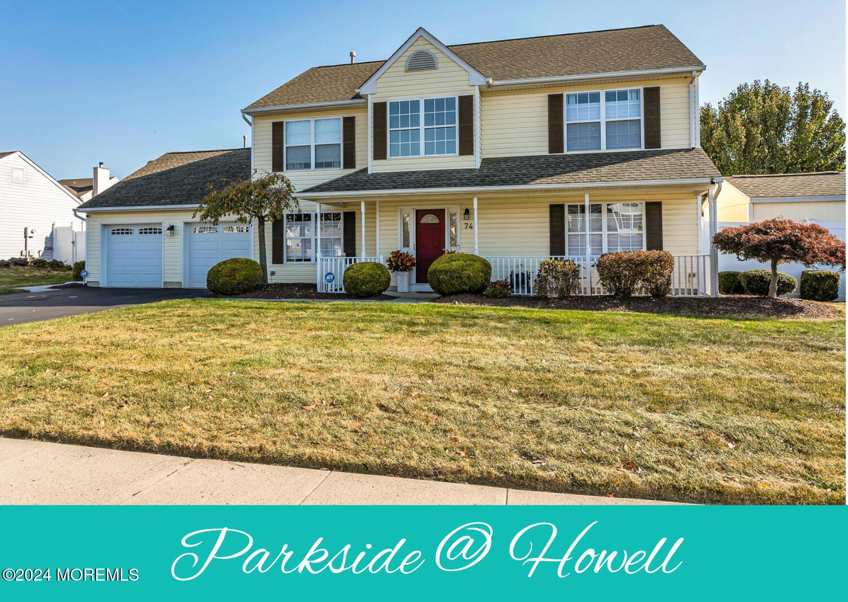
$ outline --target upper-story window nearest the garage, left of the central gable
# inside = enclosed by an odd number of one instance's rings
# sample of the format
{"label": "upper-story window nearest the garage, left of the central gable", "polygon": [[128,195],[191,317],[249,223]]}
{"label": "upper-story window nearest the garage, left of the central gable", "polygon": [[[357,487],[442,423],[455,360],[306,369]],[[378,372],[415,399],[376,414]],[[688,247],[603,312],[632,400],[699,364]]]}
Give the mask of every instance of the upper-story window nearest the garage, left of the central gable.
{"label": "upper-story window nearest the garage, left of the central gable", "polygon": [[286,121],[286,171],[342,166],[342,118]]}

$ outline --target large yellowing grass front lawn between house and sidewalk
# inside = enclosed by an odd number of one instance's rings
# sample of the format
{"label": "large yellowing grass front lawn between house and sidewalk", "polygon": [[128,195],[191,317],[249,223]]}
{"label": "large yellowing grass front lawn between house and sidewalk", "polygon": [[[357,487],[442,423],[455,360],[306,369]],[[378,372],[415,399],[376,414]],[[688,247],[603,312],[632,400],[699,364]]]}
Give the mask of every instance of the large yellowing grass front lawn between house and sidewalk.
{"label": "large yellowing grass front lawn between house and sidewalk", "polygon": [[845,320],[164,301],[0,329],[0,432],[619,497],[845,502]]}

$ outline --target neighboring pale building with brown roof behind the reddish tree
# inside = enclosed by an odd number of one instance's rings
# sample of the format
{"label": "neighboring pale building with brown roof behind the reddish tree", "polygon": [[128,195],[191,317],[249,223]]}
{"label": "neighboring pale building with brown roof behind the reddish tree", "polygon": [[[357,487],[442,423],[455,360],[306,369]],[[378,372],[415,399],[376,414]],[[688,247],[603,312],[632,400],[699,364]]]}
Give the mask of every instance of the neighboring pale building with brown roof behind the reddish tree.
{"label": "neighboring pale building with brown roof behind the reddish tree", "polygon": [[[794,222],[817,223],[845,240],[845,172],[726,177],[717,199],[717,209],[719,228],[784,217]],[[718,268],[722,271],[767,267],[753,261],[739,262],[732,255],[719,256],[718,260]],[[798,263],[779,267],[799,283],[805,269]],[[797,294],[796,290],[793,295]],[[845,301],[845,274],[842,275],[839,301]]]}

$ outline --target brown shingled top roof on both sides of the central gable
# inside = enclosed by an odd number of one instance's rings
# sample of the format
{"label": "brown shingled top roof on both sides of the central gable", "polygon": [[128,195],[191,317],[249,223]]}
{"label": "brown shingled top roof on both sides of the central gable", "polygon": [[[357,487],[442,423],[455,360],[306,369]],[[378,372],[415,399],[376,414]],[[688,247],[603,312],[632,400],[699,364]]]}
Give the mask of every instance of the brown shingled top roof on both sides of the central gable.
{"label": "brown shingled top roof on both sides of the central gable", "polygon": [[[578,76],[702,65],[665,25],[522,37],[449,46],[494,80]],[[385,61],[313,67],[245,110],[360,98],[356,88]]]}

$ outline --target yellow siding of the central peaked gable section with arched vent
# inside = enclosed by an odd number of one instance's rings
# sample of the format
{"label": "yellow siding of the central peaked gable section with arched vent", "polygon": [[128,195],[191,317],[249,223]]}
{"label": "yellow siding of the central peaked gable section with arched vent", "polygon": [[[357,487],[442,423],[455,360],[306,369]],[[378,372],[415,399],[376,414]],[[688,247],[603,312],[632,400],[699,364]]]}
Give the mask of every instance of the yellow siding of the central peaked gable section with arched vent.
{"label": "yellow siding of the central peaked gable section with arched vent", "polygon": [[[422,48],[426,48],[436,55],[438,68],[407,72],[406,59],[409,58],[411,53]],[[379,103],[389,100],[462,96],[473,93],[474,88],[468,84],[468,71],[457,65],[447,54],[432,46],[426,39],[420,37],[377,79],[377,92],[371,95],[371,101]],[[458,127],[457,124],[457,129]],[[372,172],[406,172],[421,169],[457,169],[475,166],[474,155],[403,157],[371,161]]]}

